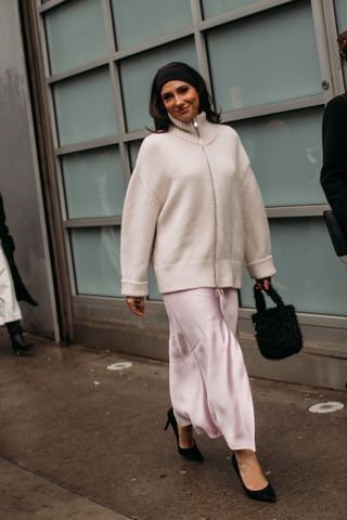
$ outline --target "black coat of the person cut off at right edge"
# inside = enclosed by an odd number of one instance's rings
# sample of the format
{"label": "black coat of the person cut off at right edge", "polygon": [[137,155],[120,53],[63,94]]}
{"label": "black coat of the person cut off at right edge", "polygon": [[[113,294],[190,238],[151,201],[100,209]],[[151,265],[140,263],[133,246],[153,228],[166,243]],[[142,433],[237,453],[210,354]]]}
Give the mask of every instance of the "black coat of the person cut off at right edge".
{"label": "black coat of the person cut off at right edge", "polygon": [[323,117],[321,184],[347,237],[347,95],[331,100]]}

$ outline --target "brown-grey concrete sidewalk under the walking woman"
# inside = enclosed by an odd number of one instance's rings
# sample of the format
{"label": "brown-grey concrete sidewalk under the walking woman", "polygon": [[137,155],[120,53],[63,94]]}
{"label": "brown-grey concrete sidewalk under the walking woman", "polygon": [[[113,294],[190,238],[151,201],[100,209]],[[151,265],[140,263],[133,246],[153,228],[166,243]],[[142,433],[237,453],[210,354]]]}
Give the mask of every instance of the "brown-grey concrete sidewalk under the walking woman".
{"label": "brown-grey concrete sidewalk under the walking woman", "polygon": [[[182,459],[166,363],[35,339],[15,358],[0,336],[1,520],[345,520],[347,393],[252,379],[261,464],[277,504],[249,500],[222,439]],[[115,363],[129,368],[111,370]],[[281,363],[285,363],[281,362]]]}

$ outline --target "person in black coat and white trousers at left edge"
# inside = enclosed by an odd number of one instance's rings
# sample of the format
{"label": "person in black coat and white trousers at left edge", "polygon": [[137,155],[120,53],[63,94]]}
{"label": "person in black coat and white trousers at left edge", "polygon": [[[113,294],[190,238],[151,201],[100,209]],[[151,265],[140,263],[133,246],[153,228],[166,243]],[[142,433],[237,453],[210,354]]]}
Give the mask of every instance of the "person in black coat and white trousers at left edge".
{"label": "person in black coat and white trousers at left edge", "polygon": [[[5,320],[4,316],[21,315],[17,301],[15,301],[15,299],[18,301],[21,300],[26,301],[31,306],[37,306],[37,303],[31,298],[30,294],[25,287],[21,278],[20,272],[16,268],[16,264],[14,262],[15,245],[12,236],[9,233],[9,227],[7,225],[5,213],[3,208],[3,199],[2,199],[1,193],[0,193],[0,248],[2,249],[7,260],[4,261],[4,258],[2,255],[1,256],[2,264],[0,265],[2,271],[1,275],[3,280],[9,281],[9,284],[11,284],[11,286],[13,285],[13,288],[14,288],[14,294],[12,294],[13,291],[11,291],[11,288],[8,286],[7,282],[4,282],[3,285],[0,284],[0,290],[5,292],[5,294],[0,294],[1,304],[3,306],[3,308],[5,306],[11,306],[11,310],[3,309],[3,313],[2,313],[2,321],[3,321]],[[16,309],[16,312],[13,313],[12,309]],[[7,325],[9,335],[11,337],[12,349],[14,353],[16,355],[22,355],[26,353],[31,348],[33,343],[28,343],[25,340],[20,320],[9,321],[2,324]]]}

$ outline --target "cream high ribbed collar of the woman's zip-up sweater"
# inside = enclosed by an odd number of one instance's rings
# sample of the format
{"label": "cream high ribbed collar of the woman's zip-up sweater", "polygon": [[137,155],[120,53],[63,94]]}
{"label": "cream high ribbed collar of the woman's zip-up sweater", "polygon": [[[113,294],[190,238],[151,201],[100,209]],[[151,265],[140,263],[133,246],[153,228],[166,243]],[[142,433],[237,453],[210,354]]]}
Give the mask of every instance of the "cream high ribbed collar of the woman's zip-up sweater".
{"label": "cream high ribbed collar of the woman's zip-up sweater", "polygon": [[202,112],[191,121],[183,122],[168,115],[172,125],[169,132],[179,135],[187,141],[200,144],[209,144],[217,135],[218,125],[206,119],[206,113]]}

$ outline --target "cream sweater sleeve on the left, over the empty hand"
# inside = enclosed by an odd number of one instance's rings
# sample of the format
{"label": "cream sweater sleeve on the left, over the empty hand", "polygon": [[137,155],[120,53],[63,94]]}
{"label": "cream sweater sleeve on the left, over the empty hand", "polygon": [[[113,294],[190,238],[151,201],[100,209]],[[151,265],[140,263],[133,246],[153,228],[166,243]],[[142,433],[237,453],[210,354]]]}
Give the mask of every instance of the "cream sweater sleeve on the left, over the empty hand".
{"label": "cream sweater sleeve on the left, over the empty hand", "polygon": [[157,198],[136,170],[128,185],[121,221],[121,294],[125,296],[149,294],[147,270],[159,209]]}

